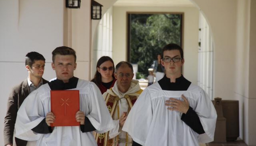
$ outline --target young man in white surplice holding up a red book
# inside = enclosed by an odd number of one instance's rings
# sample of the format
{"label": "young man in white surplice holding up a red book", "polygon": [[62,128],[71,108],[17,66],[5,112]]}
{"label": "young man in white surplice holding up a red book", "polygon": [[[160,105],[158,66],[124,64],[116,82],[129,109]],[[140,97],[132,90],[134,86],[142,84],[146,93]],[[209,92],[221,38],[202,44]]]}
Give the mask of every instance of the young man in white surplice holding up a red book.
{"label": "young man in white surplice holding up a red book", "polygon": [[[57,47],[52,52],[52,68],[57,79],[33,91],[22,103],[15,124],[15,137],[33,141],[37,146],[97,146],[92,131],[103,133],[114,128],[102,94],[93,83],[74,77],[76,52]],[[50,127],[55,115],[51,112],[50,90],[79,90],[80,110],[76,120],[80,126]]]}

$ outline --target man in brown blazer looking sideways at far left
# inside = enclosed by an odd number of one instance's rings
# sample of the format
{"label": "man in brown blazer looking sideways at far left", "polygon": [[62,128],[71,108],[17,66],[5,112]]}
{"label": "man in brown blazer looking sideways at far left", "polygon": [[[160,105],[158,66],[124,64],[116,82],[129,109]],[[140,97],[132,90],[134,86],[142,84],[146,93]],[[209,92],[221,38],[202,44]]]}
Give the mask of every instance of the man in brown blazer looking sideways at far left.
{"label": "man in brown blazer looking sideways at far left", "polygon": [[13,136],[17,112],[24,99],[32,91],[36,90],[42,84],[48,83],[48,81],[42,78],[45,66],[45,59],[43,55],[39,54],[38,52],[29,52],[25,56],[25,65],[26,70],[28,71],[28,78],[12,88],[7,102],[7,112],[4,118],[5,146],[26,146],[27,144],[30,145],[30,142],[14,138]]}

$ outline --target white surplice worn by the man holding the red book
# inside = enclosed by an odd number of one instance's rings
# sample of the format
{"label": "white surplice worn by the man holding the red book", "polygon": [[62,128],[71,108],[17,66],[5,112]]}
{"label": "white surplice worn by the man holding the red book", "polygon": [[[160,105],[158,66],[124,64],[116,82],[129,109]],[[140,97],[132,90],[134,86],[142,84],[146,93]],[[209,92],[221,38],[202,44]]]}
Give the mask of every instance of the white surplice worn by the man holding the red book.
{"label": "white surplice worn by the man holding the red book", "polygon": [[[51,111],[50,90],[49,85],[44,84],[24,100],[17,113],[15,137],[27,141],[37,140],[38,146],[97,146],[93,133],[81,132],[80,126],[54,127],[52,133],[48,134],[31,130]],[[70,90],[79,90],[80,111],[85,113],[96,132],[103,133],[114,128],[102,94],[93,82],[79,79],[77,87]]]}

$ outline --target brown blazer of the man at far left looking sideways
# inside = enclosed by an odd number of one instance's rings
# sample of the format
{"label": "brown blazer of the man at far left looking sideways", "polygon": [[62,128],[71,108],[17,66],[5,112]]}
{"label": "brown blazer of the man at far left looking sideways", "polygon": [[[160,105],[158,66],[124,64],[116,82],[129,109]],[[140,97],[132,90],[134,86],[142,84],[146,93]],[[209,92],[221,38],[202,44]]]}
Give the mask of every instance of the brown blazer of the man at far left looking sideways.
{"label": "brown blazer of the man at far left looking sideways", "polygon": [[[43,78],[42,78],[43,79]],[[43,79],[43,84],[49,83],[48,81]],[[21,82],[20,84],[14,86],[9,95],[7,101],[7,112],[4,118],[4,145],[13,144],[13,146],[26,146],[27,141],[21,140],[15,137],[15,141],[13,141],[14,137],[14,125],[16,122],[17,112],[25,100],[25,98],[29,95],[29,85],[28,79]]]}

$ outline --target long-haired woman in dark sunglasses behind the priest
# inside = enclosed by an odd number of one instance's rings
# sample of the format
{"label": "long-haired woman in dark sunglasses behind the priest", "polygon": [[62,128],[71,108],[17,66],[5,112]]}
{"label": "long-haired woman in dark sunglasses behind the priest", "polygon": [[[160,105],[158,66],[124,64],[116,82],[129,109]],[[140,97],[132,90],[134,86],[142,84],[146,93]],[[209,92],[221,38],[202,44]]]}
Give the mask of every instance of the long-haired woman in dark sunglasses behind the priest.
{"label": "long-haired woman in dark sunglasses behind the priest", "polygon": [[114,62],[110,57],[102,56],[98,60],[96,67],[97,70],[91,81],[99,87],[101,94],[103,94],[107,89],[113,87],[116,82]]}

